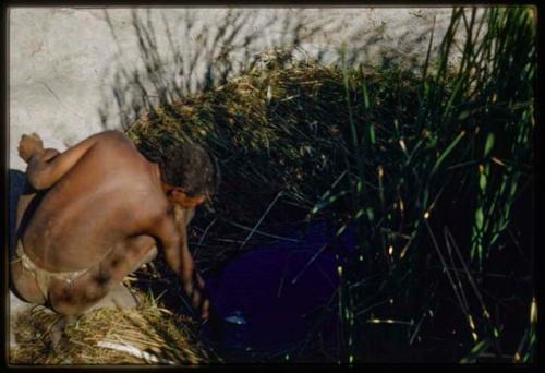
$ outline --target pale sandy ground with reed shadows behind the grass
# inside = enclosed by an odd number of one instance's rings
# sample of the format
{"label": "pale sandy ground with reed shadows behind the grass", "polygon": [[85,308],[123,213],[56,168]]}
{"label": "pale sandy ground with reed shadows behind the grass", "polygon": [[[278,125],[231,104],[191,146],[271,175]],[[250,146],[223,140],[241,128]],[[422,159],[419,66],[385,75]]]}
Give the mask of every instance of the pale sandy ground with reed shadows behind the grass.
{"label": "pale sandy ground with reed shadows behind the grass", "polygon": [[[436,47],[450,9],[252,8],[231,10],[231,19],[228,14],[225,8],[11,8],[10,169],[25,169],[16,153],[24,133],[37,132],[46,147],[64,151],[105,128],[121,129],[134,118],[132,105],[142,100],[143,91],[135,82],[142,83],[152,103],[157,96],[153,84],[156,74],[146,71],[146,62],[159,61],[155,69],[164,69],[164,77],[170,76],[164,85],[189,81],[190,91],[203,81],[207,63],[226,50],[234,71],[246,56],[294,43],[311,57],[322,53],[325,62],[334,61],[344,44],[356,62],[377,64],[390,58],[422,63],[434,19]],[[233,29],[238,35],[229,39]],[[144,50],[149,48],[142,46],[150,45],[156,55],[146,57]],[[179,58],[193,58],[197,52],[202,53],[194,72],[187,75],[189,64]],[[185,72],[172,71],[181,68]],[[21,175],[10,180],[11,216],[17,183]],[[10,305],[10,321],[28,308],[11,292]],[[10,346],[15,346],[11,334]]]}

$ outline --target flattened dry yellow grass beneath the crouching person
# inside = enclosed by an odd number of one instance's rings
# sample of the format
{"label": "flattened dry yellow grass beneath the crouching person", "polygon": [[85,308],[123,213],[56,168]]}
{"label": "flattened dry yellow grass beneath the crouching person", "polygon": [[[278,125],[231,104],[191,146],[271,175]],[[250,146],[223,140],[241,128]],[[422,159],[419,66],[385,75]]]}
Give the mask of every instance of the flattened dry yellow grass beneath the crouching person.
{"label": "flattened dry yellow grass beneath the crouching person", "polygon": [[62,317],[43,306],[20,315],[19,348],[10,363],[41,364],[203,364],[207,351],[192,334],[192,321],[161,308],[150,296],[133,310],[101,309],[80,316],[62,332]]}

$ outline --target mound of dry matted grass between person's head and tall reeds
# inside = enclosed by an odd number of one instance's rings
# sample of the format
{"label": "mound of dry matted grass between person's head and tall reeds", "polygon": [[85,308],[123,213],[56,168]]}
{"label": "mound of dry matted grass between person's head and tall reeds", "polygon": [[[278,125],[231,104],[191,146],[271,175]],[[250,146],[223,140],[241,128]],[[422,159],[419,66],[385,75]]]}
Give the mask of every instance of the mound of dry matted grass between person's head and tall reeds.
{"label": "mound of dry matted grass between person's head and tall reeds", "polygon": [[[377,139],[389,139],[393,119],[415,111],[409,107],[419,81],[411,72],[352,69],[348,80],[350,105],[339,67],[272,50],[227,84],[157,107],[126,129],[150,159],[182,141],[204,144],[219,159],[214,216],[199,213],[192,224],[199,268],[219,266],[241,248],[270,240],[262,233],[305,219],[353,160],[350,116],[376,123]],[[359,104],[368,100],[374,110]],[[385,145],[384,153],[392,147]],[[339,218],[349,209],[339,205]]]}

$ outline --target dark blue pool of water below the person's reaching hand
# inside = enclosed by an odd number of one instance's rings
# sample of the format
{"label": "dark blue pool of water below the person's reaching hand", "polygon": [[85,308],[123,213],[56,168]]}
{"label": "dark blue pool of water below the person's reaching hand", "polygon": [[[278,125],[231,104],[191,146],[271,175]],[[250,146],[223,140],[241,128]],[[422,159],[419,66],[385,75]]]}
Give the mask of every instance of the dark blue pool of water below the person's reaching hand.
{"label": "dark blue pool of water below the person's reaching hand", "polygon": [[[338,286],[338,245],[324,224],[304,231],[284,231],[278,240],[229,263],[217,277],[206,278],[210,303],[221,323],[216,340],[227,361],[296,360],[305,337],[336,345],[337,316],[332,296]],[[353,231],[341,237],[343,248],[353,248]],[[327,312],[327,304],[334,312]],[[331,308],[329,308],[331,309]],[[319,324],[317,320],[323,317]],[[205,326],[203,336],[210,338]],[[299,352],[298,352],[299,351]],[[276,358],[270,359],[270,357]],[[267,358],[264,358],[267,360]]]}

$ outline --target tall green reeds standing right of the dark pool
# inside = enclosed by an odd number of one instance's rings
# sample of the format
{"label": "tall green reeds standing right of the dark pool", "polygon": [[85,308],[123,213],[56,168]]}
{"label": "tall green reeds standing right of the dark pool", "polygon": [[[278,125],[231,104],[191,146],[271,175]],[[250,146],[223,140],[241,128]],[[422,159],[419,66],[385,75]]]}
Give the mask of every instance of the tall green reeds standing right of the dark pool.
{"label": "tall green reeds standing right of the dark pool", "polygon": [[[456,49],[458,62],[452,61]],[[491,254],[511,255],[511,213],[533,173],[535,53],[533,8],[456,8],[437,56],[428,51],[416,115],[393,116],[390,123],[373,116],[365,79],[353,86],[342,64],[352,216],[342,227],[353,225],[359,240],[359,250],[339,264],[343,362],[354,356],[375,359],[368,339],[380,327],[376,338],[383,339],[392,325],[407,329],[396,349],[413,345],[423,320],[446,301],[435,294],[441,280],[465,320],[460,333],[469,354],[462,361],[488,350],[505,356],[504,325],[492,316],[481,286]],[[388,136],[377,133],[377,125],[388,129]],[[449,220],[448,209],[462,206],[459,220]],[[432,262],[443,276],[422,275]],[[363,336],[359,346],[355,335]],[[535,337],[529,329],[524,338],[528,354]],[[522,359],[521,353],[513,358]]]}

